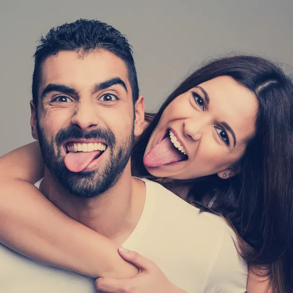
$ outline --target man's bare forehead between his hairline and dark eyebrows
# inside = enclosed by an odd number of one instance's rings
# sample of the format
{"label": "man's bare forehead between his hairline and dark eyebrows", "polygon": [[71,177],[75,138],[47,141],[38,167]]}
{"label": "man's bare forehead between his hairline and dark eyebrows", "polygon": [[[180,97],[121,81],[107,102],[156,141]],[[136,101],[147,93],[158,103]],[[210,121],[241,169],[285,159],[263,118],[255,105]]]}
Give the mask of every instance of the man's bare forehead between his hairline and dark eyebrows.
{"label": "man's bare forehead between his hairline and dark eyebrows", "polygon": [[124,81],[130,91],[126,64],[109,51],[89,51],[83,55],[76,51],[61,51],[44,60],[41,87],[52,83],[92,86],[116,77]]}

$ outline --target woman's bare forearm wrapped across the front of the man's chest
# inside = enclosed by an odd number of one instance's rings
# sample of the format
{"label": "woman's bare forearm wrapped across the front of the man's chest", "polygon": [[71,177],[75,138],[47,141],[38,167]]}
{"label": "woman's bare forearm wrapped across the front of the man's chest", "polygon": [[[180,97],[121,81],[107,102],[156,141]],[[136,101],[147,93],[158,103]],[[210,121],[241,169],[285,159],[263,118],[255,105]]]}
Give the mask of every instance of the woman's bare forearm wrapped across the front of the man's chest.
{"label": "woman's bare forearm wrapped across the front of the man's chest", "polygon": [[0,242],[44,263],[91,277],[131,277],[138,270],[118,245],[71,219],[38,188],[0,182]]}

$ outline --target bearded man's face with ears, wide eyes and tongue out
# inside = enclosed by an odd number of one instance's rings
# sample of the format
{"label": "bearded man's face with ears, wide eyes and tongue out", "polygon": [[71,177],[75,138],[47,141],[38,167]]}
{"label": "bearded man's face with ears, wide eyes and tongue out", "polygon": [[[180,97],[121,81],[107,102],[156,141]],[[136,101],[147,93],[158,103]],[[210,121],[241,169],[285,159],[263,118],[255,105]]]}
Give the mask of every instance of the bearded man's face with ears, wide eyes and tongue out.
{"label": "bearded man's face with ears, wide eyes and tongue out", "polygon": [[143,99],[134,121],[125,63],[108,51],[84,56],[61,51],[42,64],[39,105],[31,102],[33,136],[49,171],[75,196],[112,187],[129,162],[133,136],[142,131]]}

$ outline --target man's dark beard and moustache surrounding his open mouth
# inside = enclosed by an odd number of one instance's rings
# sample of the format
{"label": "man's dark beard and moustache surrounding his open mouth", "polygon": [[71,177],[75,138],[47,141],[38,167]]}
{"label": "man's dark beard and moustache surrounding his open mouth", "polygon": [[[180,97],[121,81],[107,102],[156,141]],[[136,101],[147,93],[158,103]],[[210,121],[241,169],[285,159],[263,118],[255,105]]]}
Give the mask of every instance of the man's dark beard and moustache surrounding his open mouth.
{"label": "man's dark beard and moustache surrounding his open mouth", "polygon": [[[69,126],[61,129],[51,142],[45,137],[39,122],[37,131],[42,156],[52,176],[69,194],[83,198],[96,197],[116,184],[129,161],[134,138],[134,124],[131,135],[119,144],[116,143],[114,134],[103,128],[83,132],[79,128]],[[68,139],[104,140],[109,153],[104,167],[78,173],[68,170],[61,156],[63,142]]]}

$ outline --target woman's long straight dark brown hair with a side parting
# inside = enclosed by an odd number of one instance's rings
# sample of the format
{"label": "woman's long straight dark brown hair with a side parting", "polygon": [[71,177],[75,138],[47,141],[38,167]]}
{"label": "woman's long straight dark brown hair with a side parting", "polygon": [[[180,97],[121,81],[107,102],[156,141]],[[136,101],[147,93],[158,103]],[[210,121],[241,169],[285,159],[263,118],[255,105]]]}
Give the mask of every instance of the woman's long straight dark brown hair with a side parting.
{"label": "woman's long straight dark brown hair with a side parting", "polygon": [[[218,59],[193,72],[169,95],[156,115],[146,114],[150,123],[133,148],[133,173],[168,187],[168,178],[153,177],[143,164],[150,135],[176,97],[218,76],[230,76],[255,94],[258,101],[255,136],[239,162],[240,174],[225,180],[216,174],[194,179],[186,200],[232,223],[240,236],[237,247],[242,257],[254,268],[267,267],[274,293],[291,293],[293,85],[278,66],[259,57],[234,56]],[[216,200],[209,209],[206,199],[214,195]]]}

